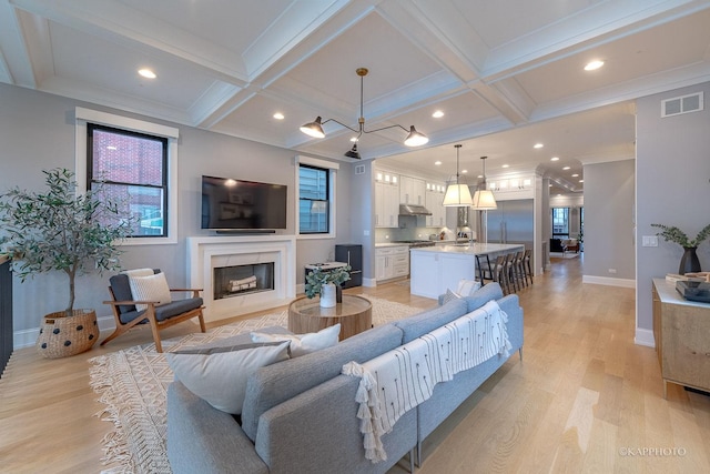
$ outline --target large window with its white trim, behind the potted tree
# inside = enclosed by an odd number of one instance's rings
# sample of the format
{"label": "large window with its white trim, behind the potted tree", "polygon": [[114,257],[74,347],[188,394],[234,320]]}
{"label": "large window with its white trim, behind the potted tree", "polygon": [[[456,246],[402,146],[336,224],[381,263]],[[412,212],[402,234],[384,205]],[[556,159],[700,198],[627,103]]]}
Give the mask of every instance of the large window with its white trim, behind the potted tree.
{"label": "large window with its white trim, behind the potted tree", "polygon": [[178,242],[179,130],[95,110],[75,110],[79,191],[98,182],[126,205],[134,233],[124,244]]}

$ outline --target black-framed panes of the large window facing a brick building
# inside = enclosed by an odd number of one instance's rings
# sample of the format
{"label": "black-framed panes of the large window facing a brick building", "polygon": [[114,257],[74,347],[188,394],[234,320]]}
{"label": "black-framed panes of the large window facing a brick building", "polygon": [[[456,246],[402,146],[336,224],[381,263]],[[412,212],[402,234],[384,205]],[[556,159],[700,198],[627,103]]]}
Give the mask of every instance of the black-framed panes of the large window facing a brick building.
{"label": "black-framed panes of the large window facing a brick building", "polygon": [[132,238],[168,235],[168,139],[89,123],[87,157],[87,188],[124,206]]}

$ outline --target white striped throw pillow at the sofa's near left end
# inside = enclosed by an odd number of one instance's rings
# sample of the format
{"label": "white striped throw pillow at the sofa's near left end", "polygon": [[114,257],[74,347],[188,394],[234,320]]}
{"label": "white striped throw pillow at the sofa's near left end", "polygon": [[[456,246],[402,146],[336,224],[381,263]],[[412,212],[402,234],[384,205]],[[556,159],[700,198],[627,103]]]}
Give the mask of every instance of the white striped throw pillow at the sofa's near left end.
{"label": "white striped throw pillow at the sofa's near left end", "polygon": [[210,405],[239,415],[246,381],[257,369],[288,359],[288,343],[244,344],[165,353],[175,377]]}

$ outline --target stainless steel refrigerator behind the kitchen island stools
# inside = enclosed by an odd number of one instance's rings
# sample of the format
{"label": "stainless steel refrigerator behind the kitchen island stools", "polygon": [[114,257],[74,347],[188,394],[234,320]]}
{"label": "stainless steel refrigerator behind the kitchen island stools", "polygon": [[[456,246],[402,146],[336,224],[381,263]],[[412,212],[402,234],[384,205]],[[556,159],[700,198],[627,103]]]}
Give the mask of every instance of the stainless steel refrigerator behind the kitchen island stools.
{"label": "stainless steel refrigerator behind the kitchen island stools", "polygon": [[488,243],[521,243],[532,249],[534,212],[531,199],[498,201],[498,209],[488,211]]}

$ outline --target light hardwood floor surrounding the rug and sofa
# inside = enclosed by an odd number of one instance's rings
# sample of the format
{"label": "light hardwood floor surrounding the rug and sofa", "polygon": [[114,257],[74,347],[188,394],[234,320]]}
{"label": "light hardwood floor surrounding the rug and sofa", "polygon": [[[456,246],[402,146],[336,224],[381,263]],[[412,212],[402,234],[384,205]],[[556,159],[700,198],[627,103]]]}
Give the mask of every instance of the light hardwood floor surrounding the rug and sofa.
{"label": "light hardwood floor surrounding the rug and sofa", "polygon": [[[417,472],[710,472],[710,396],[669,384],[663,400],[656,352],[633,344],[633,291],[582,284],[582,264],[555,259],[519,292],[523,362],[515,354],[426,440]],[[400,282],[348,292],[436,304]],[[187,323],[164,337],[194,330]],[[111,424],[94,416],[103,405],[87,361],[150,341],[142,327],[62,360],[17,351],[0,380],[0,472],[101,471]]]}

